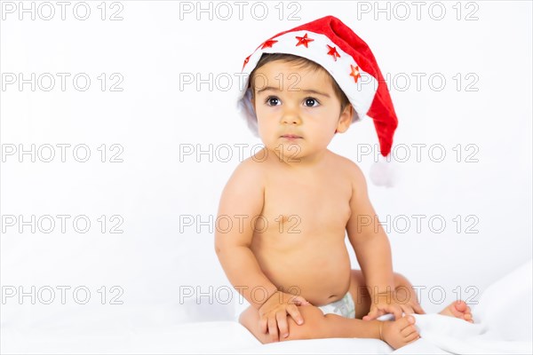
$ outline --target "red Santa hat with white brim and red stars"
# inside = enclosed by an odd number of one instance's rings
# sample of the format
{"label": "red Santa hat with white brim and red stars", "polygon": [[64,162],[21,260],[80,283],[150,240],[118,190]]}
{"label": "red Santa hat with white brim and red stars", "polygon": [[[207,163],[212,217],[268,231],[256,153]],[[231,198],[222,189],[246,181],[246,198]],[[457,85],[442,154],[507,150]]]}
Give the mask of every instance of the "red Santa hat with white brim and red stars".
{"label": "red Santa hat with white brim and red stars", "polygon": [[390,153],[398,119],[385,80],[367,43],[341,20],[326,16],[284,31],[261,43],[244,59],[242,71],[247,82],[240,88],[238,103],[256,134],[258,123],[248,79],[263,53],[293,54],[322,66],[354,106],[353,121],[369,115],[378,132],[381,154]]}

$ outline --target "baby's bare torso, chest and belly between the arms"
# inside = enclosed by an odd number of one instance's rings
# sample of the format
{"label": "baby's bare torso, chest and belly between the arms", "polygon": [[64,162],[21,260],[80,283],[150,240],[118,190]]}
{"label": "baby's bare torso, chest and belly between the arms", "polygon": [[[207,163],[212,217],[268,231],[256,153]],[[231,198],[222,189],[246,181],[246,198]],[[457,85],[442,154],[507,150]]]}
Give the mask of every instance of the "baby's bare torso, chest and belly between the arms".
{"label": "baby's bare torso, chest and belly between the arms", "polygon": [[251,242],[278,289],[311,304],[338,300],[350,285],[345,244],[352,185],[346,160],[328,152],[320,167],[288,167],[268,157],[265,200]]}

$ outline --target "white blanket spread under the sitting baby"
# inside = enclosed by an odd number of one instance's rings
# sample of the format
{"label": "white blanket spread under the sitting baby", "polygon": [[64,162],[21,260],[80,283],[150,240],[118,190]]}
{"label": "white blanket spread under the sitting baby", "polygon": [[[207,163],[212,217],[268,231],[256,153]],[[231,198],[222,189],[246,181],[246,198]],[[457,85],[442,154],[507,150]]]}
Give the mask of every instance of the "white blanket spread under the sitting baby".
{"label": "white blanket spread under the sitting baby", "polygon": [[[20,329],[2,324],[1,353],[520,353],[532,347],[532,268],[522,265],[492,284],[473,307],[475,324],[438,314],[415,315],[422,338],[393,351],[376,339],[314,339],[260,344],[237,322],[123,327],[112,317],[84,317],[80,327]],[[128,310],[139,318],[142,310]],[[137,315],[137,316],[136,316]],[[73,314],[76,317],[76,314]],[[52,321],[52,319],[50,319]],[[121,327],[122,326],[122,327]]]}

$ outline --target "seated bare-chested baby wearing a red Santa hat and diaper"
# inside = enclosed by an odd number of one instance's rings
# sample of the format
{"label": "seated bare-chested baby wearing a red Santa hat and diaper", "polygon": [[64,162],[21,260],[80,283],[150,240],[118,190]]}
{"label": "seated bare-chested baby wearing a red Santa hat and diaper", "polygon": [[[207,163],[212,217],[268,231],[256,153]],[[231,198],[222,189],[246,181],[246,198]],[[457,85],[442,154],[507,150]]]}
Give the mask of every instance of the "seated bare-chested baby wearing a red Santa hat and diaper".
{"label": "seated bare-chested baby wearing a red Santa hat and diaper", "polygon": [[[381,153],[390,152],[397,121],[370,49],[329,16],[262,43],[243,71],[241,102],[265,147],[227,182],[219,217],[232,227],[215,236],[228,280],[251,304],[239,321],[261,343],[358,337],[397,349],[416,341],[409,314],[425,312],[415,290],[393,272],[381,226],[360,223],[376,216],[362,171],[328,150],[369,114]],[[346,233],[361,271],[351,269]],[[386,313],[394,320],[378,320]],[[441,314],[473,322],[463,301]]]}

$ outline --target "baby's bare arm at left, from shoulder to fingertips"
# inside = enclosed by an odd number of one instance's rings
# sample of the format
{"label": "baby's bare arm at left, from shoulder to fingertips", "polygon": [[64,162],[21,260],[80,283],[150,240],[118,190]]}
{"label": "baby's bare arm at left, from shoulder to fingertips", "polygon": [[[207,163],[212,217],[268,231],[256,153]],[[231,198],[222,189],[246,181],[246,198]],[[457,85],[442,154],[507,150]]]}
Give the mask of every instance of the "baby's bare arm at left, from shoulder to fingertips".
{"label": "baby's bare arm at left, from shoulder to fingertips", "polygon": [[[215,233],[215,250],[228,280],[259,310],[263,333],[268,330],[277,337],[277,327],[282,335],[288,334],[287,313],[303,322],[295,304],[305,303],[305,299],[279,292],[251,252],[251,220],[263,209],[265,190],[265,168],[258,164],[251,159],[242,162],[227,182],[220,197],[219,217],[224,218],[217,218],[220,226]],[[232,221],[231,228],[223,225],[225,220]]]}

